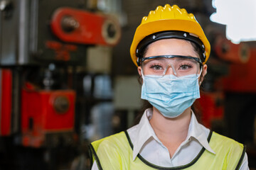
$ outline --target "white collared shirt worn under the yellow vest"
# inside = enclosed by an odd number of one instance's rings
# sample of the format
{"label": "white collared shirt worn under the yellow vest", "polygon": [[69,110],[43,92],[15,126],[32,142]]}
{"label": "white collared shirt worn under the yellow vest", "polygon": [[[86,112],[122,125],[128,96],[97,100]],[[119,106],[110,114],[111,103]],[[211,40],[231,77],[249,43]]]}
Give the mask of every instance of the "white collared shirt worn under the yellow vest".
{"label": "white collared shirt worn under the yellow vest", "polygon": [[[207,141],[210,130],[198,123],[196,116],[192,113],[186,140],[176,149],[173,157],[170,157],[168,149],[156,137],[149,123],[152,114],[151,108],[146,109],[139,124],[127,130],[134,145],[133,160],[140,154],[146,161],[151,162],[151,164],[174,167],[190,163],[196,158],[203,147],[215,154]],[[247,169],[249,168],[247,154],[245,154],[240,170]],[[95,162],[92,165],[92,170],[97,170],[97,164]]]}

